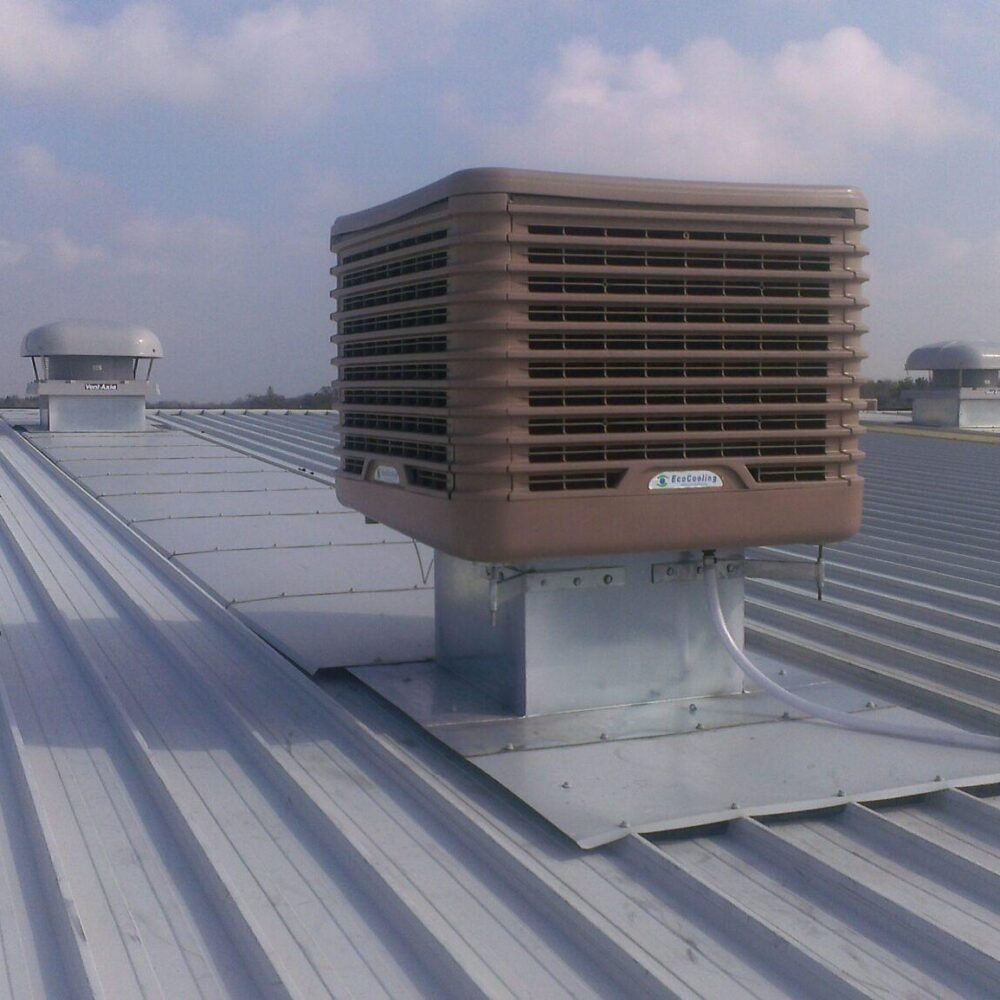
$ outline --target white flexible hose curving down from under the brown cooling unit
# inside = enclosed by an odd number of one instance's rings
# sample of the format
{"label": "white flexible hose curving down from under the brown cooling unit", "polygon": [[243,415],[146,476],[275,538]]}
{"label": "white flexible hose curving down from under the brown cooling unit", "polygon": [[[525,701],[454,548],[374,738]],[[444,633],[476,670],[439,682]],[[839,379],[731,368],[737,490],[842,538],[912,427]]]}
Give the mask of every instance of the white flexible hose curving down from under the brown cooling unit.
{"label": "white flexible hose curving down from under the brown cooling unit", "polygon": [[722,613],[722,604],[719,601],[718,566],[711,557],[705,560],[705,586],[708,590],[708,606],[712,613],[712,622],[715,625],[715,630],[719,633],[719,638],[726,647],[726,652],[729,653],[740,670],[754,684],[763,688],[768,694],[774,695],[775,698],[783,701],[786,705],[791,705],[792,708],[796,708],[800,712],[806,712],[817,719],[832,722],[835,726],[843,726],[845,729],[853,729],[861,733],[874,733],[877,736],[896,736],[905,740],[920,740],[924,743],[941,743],[945,746],[960,747],[965,750],[1000,751],[1000,737],[983,736],[979,733],[970,733],[964,729],[958,732],[948,732],[947,730],[936,729],[930,726],[911,726],[899,722],[878,722],[874,719],[866,719],[863,716],[852,715],[850,712],[838,712],[836,709],[817,705],[815,702],[800,698],[797,694],[792,694],[791,691],[772,681],[759,667],[754,666],[743,650],[737,645],[736,640],[729,631],[729,626],[726,625],[726,619]]}

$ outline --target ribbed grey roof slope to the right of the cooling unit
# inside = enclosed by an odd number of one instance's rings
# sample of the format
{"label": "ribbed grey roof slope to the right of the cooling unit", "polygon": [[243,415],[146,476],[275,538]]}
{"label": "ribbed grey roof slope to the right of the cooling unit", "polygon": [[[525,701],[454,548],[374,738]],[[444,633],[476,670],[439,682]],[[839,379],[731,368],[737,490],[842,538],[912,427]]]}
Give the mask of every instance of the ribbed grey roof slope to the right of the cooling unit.
{"label": "ribbed grey roof slope to the right of the cooling unit", "polygon": [[748,586],[750,641],[980,731],[1000,725],[1000,448],[872,433],[865,521],[827,552],[822,604]]}

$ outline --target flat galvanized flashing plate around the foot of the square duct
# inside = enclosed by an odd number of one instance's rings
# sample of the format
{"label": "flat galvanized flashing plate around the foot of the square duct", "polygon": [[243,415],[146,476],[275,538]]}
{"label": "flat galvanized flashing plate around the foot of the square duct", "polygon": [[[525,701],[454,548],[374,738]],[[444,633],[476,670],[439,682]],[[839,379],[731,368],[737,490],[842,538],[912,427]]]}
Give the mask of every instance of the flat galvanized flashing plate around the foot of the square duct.
{"label": "flat galvanized flashing plate around the foot of the square duct", "polygon": [[[750,654],[812,701],[928,724],[760,650]],[[434,664],[352,672],[582,847],[631,832],[901,798],[972,777],[1000,780],[995,753],[849,732],[796,717],[760,692],[514,718]]]}

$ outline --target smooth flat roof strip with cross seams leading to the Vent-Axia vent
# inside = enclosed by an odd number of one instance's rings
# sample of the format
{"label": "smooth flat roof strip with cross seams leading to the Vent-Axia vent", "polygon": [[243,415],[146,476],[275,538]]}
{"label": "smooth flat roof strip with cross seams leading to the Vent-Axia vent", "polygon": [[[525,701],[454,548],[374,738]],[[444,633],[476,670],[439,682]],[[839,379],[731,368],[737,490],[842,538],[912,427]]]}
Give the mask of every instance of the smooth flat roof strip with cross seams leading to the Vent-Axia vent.
{"label": "smooth flat roof strip with cross seams leading to the Vent-Axia vent", "polygon": [[[285,471],[323,463],[314,439],[329,418],[272,417],[266,440],[264,418],[242,419],[244,454],[214,443],[232,434],[203,415],[191,428],[197,437],[34,432],[31,440],[304,669],[430,656],[431,551],[365,524],[323,473]],[[296,426],[306,419],[309,428]],[[212,438],[200,433],[206,422]],[[294,457],[276,467],[276,446],[293,442]],[[258,448],[265,461],[246,454]]]}

